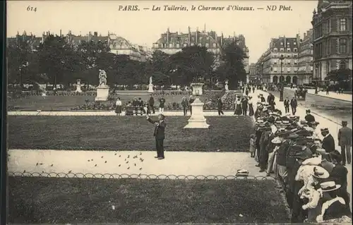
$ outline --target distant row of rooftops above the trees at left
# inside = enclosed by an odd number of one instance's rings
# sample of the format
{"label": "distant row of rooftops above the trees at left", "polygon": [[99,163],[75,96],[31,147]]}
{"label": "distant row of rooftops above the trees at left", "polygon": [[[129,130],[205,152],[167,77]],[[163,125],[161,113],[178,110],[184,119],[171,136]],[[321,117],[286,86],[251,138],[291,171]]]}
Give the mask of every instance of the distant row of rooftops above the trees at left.
{"label": "distant row of rooftops above the trees at left", "polygon": [[[40,43],[44,42],[50,34],[50,32],[43,32],[42,37],[35,37],[35,35],[27,35],[26,32],[23,32],[23,35],[16,35],[16,37],[8,37],[7,42],[16,42],[18,39],[25,39],[30,43],[30,46],[33,50],[37,49],[40,46]],[[107,36],[98,35],[97,32],[88,33],[88,35],[73,35],[71,31],[68,32],[66,36],[61,34],[60,37],[66,37],[68,43],[73,44],[73,46],[78,46],[83,41],[86,42],[102,42],[107,44],[110,47],[110,52],[114,54],[125,54],[130,57],[132,60],[136,61],[146,61],[151,56],[151,50],[147,47],[140,46],[138,44],[131,44],[124,37],[119,37],[114,33],[109,33]]]}

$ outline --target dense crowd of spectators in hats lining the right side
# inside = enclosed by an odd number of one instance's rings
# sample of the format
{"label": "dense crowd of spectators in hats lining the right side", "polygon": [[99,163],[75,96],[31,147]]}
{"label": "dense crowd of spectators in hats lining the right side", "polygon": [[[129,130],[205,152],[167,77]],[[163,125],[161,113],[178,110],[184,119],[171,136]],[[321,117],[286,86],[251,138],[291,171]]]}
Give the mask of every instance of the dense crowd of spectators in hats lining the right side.
{"label": "dense crowd of spectators in hats lining the right side", "polygon": [[345,164],[351,163],[352,129],[347,121],[338,133],[339,152],[328,128],[316,131],[318,122],[309,109],[301,120],[287,108],[282,114],[270,95],[267,101],[258,98],[249,151],[261,173],[275,174],[292,223],[351,221]]}

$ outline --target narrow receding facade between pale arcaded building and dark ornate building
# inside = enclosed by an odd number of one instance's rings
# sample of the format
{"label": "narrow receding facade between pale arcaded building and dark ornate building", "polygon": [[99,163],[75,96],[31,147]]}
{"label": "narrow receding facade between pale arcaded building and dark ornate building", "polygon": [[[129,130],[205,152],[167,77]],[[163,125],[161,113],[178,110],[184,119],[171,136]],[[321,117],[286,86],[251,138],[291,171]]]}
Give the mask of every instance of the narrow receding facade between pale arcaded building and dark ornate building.
{"label": "narrow receding facade between pale arcaded building and dark ornate building", "polygon": [[299,43],[298,54],[299,84],[309,84],[313,79],[313,29],[304,33]]}

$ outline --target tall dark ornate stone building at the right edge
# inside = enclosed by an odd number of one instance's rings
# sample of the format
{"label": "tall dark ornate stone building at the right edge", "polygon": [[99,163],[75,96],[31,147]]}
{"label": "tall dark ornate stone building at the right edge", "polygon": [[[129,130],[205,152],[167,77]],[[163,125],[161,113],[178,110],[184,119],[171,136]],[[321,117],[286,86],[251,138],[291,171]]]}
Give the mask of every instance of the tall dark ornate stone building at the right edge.
{"label": "tall dark ornate stone building at the right edge", "polygon": [[318,1],[313,11],[313,81],[352,70],[352,1]]}

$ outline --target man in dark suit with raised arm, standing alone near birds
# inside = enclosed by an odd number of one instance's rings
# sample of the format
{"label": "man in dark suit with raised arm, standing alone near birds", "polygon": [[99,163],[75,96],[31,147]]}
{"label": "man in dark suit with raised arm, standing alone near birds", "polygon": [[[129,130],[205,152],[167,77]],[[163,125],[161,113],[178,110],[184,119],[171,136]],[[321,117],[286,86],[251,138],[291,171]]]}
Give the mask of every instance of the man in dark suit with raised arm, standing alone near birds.
{"label": "man in dark suit with raised arm, standing alone near birds", "polygon": [[153,132],[153,136],[155,136],[155,146],[157,149],[157,159],[164,159],[164,130],[167,124],[164,122],[164,115],[158,115],[158,121],[152,121],[149,116],[146,116],[148,122],[155,124],[155,131]]}

